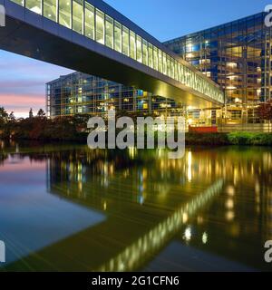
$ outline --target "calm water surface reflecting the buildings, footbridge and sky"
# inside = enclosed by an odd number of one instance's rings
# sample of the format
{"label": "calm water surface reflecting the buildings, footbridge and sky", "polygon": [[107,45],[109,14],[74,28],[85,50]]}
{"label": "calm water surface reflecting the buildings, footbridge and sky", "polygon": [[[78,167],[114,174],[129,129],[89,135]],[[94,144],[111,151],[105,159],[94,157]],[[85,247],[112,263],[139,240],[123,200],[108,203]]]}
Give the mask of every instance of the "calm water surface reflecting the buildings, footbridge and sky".
{"label": "calm water surface reflecting the buildings, footbridge and sky", "polygon": [[269,148],[2,142],[0,270],[270,271],[271,173]]}

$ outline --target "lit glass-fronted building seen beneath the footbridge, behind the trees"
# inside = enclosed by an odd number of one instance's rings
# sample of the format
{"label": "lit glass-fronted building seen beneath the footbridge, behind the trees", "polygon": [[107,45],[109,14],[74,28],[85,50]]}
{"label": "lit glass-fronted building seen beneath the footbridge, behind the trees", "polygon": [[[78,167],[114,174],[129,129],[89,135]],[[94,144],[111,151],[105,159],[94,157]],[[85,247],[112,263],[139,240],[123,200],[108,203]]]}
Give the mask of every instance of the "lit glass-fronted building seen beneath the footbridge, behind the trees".
{"label": "lit glass-fronted building seen beneath the footbridge, behind the trees", "polygon": [[46,93],[50,117],[82,113],[103,115],[108,110],[156,115],[183,111],[181,104],[170,99],[85,73],[71,73],[48,82]]}

